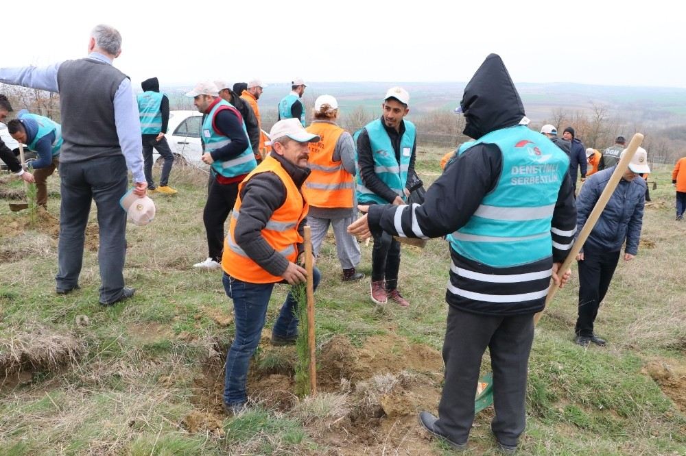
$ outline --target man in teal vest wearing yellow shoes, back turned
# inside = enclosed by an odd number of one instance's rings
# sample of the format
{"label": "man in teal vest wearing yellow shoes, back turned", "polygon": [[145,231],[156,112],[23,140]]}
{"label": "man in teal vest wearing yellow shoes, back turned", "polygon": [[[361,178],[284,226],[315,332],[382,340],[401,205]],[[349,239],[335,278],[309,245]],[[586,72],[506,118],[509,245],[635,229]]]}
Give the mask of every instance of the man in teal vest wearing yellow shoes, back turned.
{"label": "man in teal vest wearing yellow shoes, back turned", "polygon": [[[141,136],[143,137],[143,170],[147,180],[149,192],[175,194],[176,190],[169,187],[169,173],[174,164],[174,154],[167,143],[167,125],[169,124],[169,99],[160,92],[160,83],[156,77],[145,79],[141,83],[143,93],[137,95],[138,110],[141,118]],[[155,187],[152,178],[152,149],[158,151],[165,160],[162,165],[160,186]]]}

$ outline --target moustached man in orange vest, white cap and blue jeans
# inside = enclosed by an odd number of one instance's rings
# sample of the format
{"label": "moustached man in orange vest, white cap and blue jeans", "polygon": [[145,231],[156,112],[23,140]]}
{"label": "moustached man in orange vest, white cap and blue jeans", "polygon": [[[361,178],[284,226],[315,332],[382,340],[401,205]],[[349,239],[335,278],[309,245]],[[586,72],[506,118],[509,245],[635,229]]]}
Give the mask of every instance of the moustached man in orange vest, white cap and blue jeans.
{"label": "moustached man in orange vest, white cap and blue jeans", "polygon": [[[222,255],[222,281],[233,299],[236,325],[224,382],[224,409],[230,416],[248,401],[248,364],[261,338],[274,284],[307,280],[307,271],[297,264],[308,211],[302,187],[310,173],[308,144],[320,137],[305,131],[297,118],[275,123],[269,136],[272,153],[238,186]],[[314,288],[319,278],[315,268]],[[272,328],[272,344],[296,342],[296,306],[289,293]]]}

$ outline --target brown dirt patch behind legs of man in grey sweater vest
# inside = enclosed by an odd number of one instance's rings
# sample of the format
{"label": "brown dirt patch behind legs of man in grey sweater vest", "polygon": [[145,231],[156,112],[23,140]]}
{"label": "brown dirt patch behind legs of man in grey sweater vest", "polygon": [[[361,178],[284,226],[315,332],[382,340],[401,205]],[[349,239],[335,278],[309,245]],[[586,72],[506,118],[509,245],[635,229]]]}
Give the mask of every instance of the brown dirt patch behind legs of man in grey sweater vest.
{"label": "brown dirt patch behind legs of man in grey sweater vest", "polygon": [[[35,227],[31,226],[31,219],[27,210],[18,214],[0,216],[0,226],[4,229],[0,232],[0,238],[16,238],[29,229],[35,229],[57,240],[60,237],[60,219],[50,214],[43,207],[38,207]],[[99,233],[97,224],[86,225],[86,241],[84,247],[91,252],[96,252],[99,246]]]}

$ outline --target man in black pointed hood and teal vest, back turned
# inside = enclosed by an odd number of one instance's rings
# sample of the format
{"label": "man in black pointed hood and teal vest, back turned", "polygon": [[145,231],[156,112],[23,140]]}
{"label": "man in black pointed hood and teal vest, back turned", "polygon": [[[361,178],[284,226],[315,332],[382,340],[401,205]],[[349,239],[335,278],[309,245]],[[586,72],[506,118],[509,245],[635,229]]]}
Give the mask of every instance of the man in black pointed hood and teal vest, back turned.
{"label": "man in black pointed hood and teal vest, back turned", "polygon": [[[502,60],[491,54],[464,88],[464,134],[475,138],[429,187],[422,205],[371,205],[348,227],[408,238],[448,235],[449,304],[438,418],[419,414],[429,433],[453,448],[467,446],[486,347],[493,366],[499,449],[512,454],[525,428],[525,399],[534,320],[576,233],[569,157],[531,131]],[[364,210],[364,207],[360,207]]]}

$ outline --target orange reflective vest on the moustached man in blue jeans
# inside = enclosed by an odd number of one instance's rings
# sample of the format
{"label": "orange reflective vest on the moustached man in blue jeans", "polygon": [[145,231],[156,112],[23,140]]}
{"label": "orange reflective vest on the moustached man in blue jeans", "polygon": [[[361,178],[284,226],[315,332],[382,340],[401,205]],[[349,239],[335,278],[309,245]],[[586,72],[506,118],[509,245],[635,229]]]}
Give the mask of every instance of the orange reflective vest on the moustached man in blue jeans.
{"label": "orange reflective vest on the moustached man in blue jeans", "polygon": [[239,183],[238,199],[231,213],[228,235],[224,240],[222,269],[231,277],[244,282],[275,283],[283,280],[283,277],[271,275],[248,257],[245,251],[238,246],[234,236],[236,223],[241,218],[241,190],[254,175],[268,172],[274,173],[283,182],[286,188],[286,201],[274,211],[267,225],[262,229],[261,235],[274,250],[281,253],[289,262],[294,263],[298,259],[298,244],[303,242],[303,237],[298,233],[298,225],[307,216],[309,206],[281,163],[269,156],[252,170],[244,181]]}

